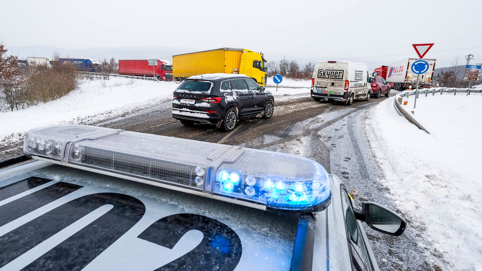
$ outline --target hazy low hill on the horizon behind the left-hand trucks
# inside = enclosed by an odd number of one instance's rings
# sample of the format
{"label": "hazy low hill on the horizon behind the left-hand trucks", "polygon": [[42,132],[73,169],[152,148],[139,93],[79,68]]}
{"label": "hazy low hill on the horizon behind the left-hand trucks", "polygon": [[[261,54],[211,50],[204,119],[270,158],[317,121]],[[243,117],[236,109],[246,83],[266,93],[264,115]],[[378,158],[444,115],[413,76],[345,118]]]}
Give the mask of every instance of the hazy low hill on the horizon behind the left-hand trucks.
{"label": "hazy low hill on the horizon behind the left-hand trucks", "polygon": [[158,58],[172,60],[174,54],[201,51],[199,48],[180,48],[168,46],[138,46],[138,47],[95,47],[87,49],[70,49],[56,46],[11,46],[8,54],[15,56],[37,56],[51,57],[54,52],[60,56],[76,58],[104,59],[114,57],[115,59],[148,59]]}

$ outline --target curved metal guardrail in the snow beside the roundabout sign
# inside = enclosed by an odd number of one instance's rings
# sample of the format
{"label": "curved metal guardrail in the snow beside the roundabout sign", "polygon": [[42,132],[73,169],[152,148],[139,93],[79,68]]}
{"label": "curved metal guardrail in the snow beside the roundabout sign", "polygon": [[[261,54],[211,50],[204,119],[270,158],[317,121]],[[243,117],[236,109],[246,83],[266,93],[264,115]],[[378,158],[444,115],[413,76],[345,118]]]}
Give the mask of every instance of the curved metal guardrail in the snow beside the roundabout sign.
{"label": "curved metal guardrail in the snow beside the roundabout sign", "polygon": [[412,95],[417,95],[417,97],[420,94],[425,94],[425,96],[428,96],[428,94],[435,95],[436,93],[440,93],[442,95],[443,93],[450,93],[456,95],[457,93],[466,93],[467,95],[470,95],[471,93],[481,93],[482,90],[477,89],[467,89],[467,88],[425,88],[425,89],[419,89],[419,90],[406,90],[404,92],[398,93],[395,95],[395,100],[393,101],[393,105],[397,112],[405,117],[409,122],[412,122],[415,126],[417,126],[419,129],[424,130],[427,134],[430,134],[425,127],[422,126],[415,118],[413,117],[413,111],[409,112],[407,108],[403,105],[404,101],[403,97],[410,97]]}

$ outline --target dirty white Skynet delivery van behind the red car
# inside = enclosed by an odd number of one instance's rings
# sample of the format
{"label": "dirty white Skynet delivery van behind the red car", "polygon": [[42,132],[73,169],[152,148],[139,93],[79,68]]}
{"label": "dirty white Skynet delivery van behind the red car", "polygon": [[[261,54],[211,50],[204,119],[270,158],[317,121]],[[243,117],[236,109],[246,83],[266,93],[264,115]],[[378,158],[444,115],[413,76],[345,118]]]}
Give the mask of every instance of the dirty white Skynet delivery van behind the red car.
{"label": "dirty white Skynet delivery van behind the red car", "polygon": [[311,79],[311,97],[315,101],[342,101],[349,106],[354,99],[369,100],[371,94],[366,64],[349,61],[316,63]]}

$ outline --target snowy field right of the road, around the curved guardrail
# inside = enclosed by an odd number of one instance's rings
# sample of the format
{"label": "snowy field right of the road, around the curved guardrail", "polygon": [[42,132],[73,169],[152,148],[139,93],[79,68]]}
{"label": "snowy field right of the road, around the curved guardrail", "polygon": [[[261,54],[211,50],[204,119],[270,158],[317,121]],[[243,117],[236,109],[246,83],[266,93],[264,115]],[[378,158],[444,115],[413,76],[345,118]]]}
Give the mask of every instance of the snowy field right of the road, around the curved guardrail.
{"label": "snowy field right of the road, around the curved guardrail", "polygon": [[366,123],[388,196],[410,218],[408,227],[425,235],[418,245],[439,265],[481,271],[482,96],[419,95],[415,119],[430,135],[399,116],[393,99],[377,105]]}

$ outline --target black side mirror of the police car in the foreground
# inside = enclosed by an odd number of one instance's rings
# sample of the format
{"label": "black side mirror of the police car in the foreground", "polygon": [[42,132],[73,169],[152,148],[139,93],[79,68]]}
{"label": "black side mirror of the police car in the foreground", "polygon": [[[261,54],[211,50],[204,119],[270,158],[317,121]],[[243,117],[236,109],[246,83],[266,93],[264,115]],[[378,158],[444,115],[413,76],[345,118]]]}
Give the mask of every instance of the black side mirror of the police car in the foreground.
{"label": "black side mirror of the police car in the foreground", "polygon": [[370,228],[393,236],[402,235],[407,227],[405,219],[377,203],[362,202],[362,210],[355,209],[355,216]]}

